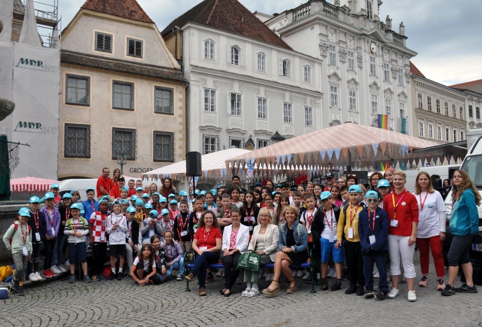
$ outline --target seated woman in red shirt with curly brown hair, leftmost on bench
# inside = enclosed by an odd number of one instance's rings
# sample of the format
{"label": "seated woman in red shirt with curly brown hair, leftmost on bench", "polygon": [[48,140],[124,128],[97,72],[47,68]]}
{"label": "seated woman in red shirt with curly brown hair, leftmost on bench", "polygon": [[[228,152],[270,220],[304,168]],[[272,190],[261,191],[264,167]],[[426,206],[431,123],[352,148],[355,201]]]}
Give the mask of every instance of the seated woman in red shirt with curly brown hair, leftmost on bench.
{"label": "seated woman in red shirt with curly brown hair, leftmost on bench", "polygon": [[194,234],[192,249],[194,250],[196,262],[189,275],[185,276],[192,281],[197,275],[199,281],[199,296],[206,295],[206,270],[207,265],[217,263],[219,250],[221,250],[221,231],[217,225],[215,214],[206,210],[199,219],[198,229]]}

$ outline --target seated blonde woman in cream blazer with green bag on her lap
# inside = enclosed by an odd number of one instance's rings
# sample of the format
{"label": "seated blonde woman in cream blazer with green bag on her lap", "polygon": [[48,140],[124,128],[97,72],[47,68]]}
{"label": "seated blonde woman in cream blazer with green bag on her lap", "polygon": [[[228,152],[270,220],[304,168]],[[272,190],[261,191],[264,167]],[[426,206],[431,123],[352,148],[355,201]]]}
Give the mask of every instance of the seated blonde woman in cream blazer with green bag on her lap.
{"label": "seated blonde woman in cream blazer with green bag on her lap", "polygon": [[[273,224],[273,216],[268,209],[261,209],[258,214],[258,225],[253,230],[248,252],[256,252],[261,256],[260,265],[275,261],[278,252],[278,239],[280,232],[277,225]],[[260,293],[258,288],[258,272],[245,269],[244,281],[246,289],[241,296],[252,297]]]}

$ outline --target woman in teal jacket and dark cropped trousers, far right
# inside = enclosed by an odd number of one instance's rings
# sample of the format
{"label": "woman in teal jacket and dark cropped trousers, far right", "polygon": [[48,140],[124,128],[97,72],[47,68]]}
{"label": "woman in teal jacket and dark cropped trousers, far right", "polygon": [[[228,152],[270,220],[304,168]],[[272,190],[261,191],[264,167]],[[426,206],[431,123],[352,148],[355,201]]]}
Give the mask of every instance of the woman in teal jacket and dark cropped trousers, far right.
{"label": "woman in teal jacket and dark cropped trousers, far right", "polygon": [[[472,239],[478,233],[478,212],[480,195],[468,177],[462,170],[453,173],[452,187],[452,214],[450,229],[452,243],[447,254],[448,283],[442,290],[442,295],[450,296],[457,293],[476,293],[477,289],[472,281],[472,264],[470,263],[469,248]],[[453,283],[458,274],[458,263],[462,265],[465,283],[461,287],[454,288]]]}

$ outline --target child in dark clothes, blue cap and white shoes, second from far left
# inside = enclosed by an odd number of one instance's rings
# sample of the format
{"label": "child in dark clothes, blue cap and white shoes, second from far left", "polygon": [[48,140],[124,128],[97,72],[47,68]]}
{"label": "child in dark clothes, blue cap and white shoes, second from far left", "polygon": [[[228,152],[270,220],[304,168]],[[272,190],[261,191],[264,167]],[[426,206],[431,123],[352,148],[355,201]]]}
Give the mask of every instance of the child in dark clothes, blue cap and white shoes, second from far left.
{"label": "child in dark clothes, blue cap and white shoes, second from far left", "polygon": [[40,199],[38,197],[30,198],[30,219],[28,221],[32,229],[32,255],[29,260],[29,280],[42,280],[40,275],[40,250],[42,249],[42,242],[47,230],[45,229],[45,217],[39,211]]}

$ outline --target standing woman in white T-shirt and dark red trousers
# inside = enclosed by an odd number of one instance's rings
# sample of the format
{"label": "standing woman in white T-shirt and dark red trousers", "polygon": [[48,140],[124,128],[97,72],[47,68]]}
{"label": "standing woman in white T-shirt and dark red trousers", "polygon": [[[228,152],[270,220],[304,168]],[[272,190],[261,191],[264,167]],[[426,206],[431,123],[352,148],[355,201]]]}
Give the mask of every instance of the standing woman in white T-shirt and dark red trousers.
{"label": "standing woman in white T-shirt and dark red trousers", "polygon": [[420,267],[422,278],[418,286],[428,284],[429,253],[432,252],[435,272],[437,273],[437,290],[445,289],[443,277],[442,242],[445,239],[445,204],[442,196],[432,187],[430,175],[420,172],[415,179],[415,198],[418,202],[417,245],[420,251]]}

